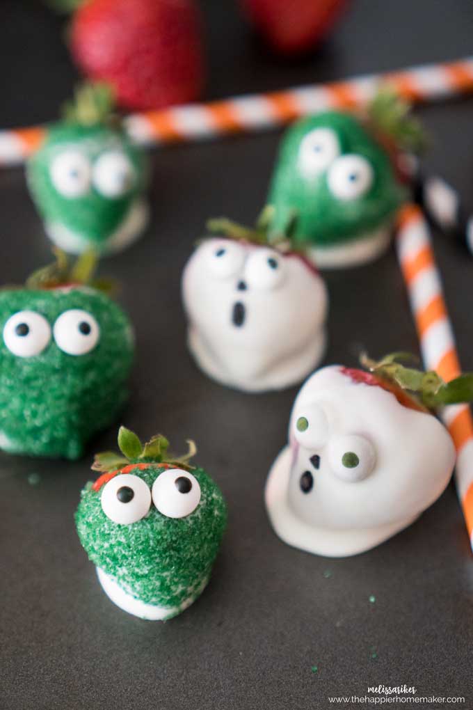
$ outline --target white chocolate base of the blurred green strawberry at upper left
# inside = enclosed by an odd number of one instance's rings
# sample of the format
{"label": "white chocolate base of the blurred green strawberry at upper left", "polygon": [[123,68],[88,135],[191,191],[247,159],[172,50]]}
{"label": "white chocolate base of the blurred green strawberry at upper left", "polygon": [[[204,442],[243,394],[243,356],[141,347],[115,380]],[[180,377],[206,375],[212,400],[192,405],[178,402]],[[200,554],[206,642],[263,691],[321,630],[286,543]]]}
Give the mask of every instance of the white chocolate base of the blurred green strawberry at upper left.
{"label": "white chocolate base of the blurred green strawberry at upper left", "polygon": [[[148,225],[150,209],[144,200],[136,200],[130,207],[123,223],[104,242],[104,254],[113,254],[126,249],[138,240]],[[93,247],[93,244],[83,236],[68,229],[60,222],[45,224],[45,231],[50,240],[62,251],[69,254],[80,254]]]}

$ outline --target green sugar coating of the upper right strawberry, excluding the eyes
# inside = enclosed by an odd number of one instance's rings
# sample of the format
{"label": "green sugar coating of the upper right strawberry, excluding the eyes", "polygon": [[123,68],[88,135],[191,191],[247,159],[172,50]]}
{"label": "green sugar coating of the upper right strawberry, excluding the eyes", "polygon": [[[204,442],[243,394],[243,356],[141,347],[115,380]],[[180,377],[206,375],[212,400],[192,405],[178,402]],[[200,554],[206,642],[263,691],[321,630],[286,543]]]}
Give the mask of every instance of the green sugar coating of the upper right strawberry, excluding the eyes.
{"label": "green sugar coating of the upper right strawberry, excluding the eyes", "polygon": [[[355,200],[337,197],[328,179],[334,160],[313,175],[304,174],[301,143],[315,129],[334,137],[341,156],[356,154],[367,160],[374,176],[367,192]],[[271,231],[284,234],[296,213],[291,234],[297,243],[343,244],[389,225],[405,199],[388,153],[365,126],[346,112],[324,111],[297,121],[284,135],[268,198],[274,207]]]}

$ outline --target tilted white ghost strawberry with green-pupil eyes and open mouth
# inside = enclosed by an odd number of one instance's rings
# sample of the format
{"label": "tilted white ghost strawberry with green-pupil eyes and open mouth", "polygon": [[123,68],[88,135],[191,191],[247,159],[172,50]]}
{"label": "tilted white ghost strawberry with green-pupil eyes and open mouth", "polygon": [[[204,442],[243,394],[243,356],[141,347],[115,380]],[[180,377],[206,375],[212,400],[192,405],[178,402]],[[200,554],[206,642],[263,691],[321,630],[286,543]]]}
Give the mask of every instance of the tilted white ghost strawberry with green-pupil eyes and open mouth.
{"label": "tilted white ghost strawberry with green-pupil eyes and open mouth", "polygon": [[443,493],[455,464],[436,407],[473,399],[473,376],[444,383],[402,364],[322,368],[296,397],[289,445],[265,500],[277,535],[328,557],[356,555],[411,525]]}

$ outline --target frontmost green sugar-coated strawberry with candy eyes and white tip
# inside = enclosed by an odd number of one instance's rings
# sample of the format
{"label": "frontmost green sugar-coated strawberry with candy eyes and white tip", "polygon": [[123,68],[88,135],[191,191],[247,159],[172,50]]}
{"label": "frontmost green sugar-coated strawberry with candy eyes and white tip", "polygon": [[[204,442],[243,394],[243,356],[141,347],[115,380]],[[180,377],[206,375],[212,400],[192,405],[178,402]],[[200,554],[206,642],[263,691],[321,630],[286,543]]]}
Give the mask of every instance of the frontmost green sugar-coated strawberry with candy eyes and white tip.
{"label": "frontmost green sugar-coated strawberry with candy eyes and white tip", "polygon": [[82,491],[79,539],[107,596],[128,613],[165,621],[204,591],[226,528],[222,493],[189,454],[172,457],[159,435],[148,444],[125,427],[121,455],[99,454],[101,472]]}

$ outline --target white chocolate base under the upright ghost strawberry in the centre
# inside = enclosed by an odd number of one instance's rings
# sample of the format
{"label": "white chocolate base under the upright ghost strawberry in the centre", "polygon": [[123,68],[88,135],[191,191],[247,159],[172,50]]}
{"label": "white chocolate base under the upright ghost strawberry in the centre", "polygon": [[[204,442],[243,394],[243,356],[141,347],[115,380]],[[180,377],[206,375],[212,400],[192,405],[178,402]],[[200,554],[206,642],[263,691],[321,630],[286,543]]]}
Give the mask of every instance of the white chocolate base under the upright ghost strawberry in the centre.
{"label": "white chocolate base under the upright ghost strawberry in the centre", "polygon": [[[290,357],[267,368],[267,371],[255,371],[245,375],[243,375],[245,368],[242,368],[241,374],[236,368],[233,372],[230,371],[228,367],[230,363],[219,360],[210,344],[192,326],[189,326],[187,331],[187,343],[196,363],[211,379],[245,392],[263,392],[282,390],[303,381],[321,362],[325,354],[327,336],[323,328],[313,334],[305,348],[297,349]],[[240,357],[244,358],[245,354]]]}

